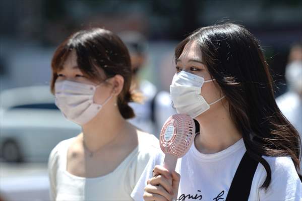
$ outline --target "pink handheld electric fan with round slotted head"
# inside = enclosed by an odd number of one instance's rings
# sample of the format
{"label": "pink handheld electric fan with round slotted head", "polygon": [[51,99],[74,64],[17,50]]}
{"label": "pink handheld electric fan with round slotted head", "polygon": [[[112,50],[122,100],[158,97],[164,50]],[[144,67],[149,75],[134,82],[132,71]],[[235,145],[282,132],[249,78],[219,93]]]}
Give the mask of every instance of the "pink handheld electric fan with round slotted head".
{"label": "pink handheld electric fan with round slotted head", "polygon": [[165,153],[163,166],[171,172],[177,159],[190,149],[195,136],[195,123],[189,115],[175,114],[167,119],[159,135],[161,150]]}

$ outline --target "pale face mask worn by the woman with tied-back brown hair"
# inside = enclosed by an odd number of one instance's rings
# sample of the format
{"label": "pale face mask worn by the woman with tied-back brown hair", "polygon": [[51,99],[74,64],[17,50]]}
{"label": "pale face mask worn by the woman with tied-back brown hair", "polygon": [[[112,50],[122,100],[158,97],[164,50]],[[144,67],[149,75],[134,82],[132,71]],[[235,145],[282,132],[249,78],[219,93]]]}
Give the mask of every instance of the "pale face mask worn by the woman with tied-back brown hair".
{"label": "pale face mask worn by the woman with tied-back brown hair", "polygon": [[103,104],[93,103],[93,96],[98,86],[74,81],[55,82],[55,105],[66,119],[83,126],[93,119],[112,97],[110,95]]}

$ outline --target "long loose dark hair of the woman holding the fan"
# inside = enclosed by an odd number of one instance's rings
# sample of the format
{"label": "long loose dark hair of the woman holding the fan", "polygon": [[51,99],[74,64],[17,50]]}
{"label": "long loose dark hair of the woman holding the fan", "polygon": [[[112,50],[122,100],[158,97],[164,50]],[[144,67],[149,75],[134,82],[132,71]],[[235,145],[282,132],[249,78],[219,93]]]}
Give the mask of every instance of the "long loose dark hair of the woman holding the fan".
{"label": "long loose dark hair of the woman holding the fan", "polygon": [[259,41],[233,23],[203,27],[177,45],[175,62],[193,41],[228,102],[230,117],[243,135],[248,154],[267,172],[261,187],[267,189],[271,181],[270,166],[262,155],[290,156],[298,172],[299,134],[275,102],[274,82]]}

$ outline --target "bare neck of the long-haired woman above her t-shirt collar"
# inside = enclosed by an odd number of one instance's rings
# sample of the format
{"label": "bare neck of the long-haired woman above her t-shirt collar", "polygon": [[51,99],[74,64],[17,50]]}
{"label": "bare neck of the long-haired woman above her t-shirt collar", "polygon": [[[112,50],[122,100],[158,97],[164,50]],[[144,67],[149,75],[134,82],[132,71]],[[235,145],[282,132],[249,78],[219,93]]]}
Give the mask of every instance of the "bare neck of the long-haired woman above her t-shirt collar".
{"label": "bare neck of the long-haired woman above her t-shirt collar", "polygon": [[222,103],[218,102],[211,107],[211,111],[196,118],[200,134],[195,137],[195,146],[204,154],[222,151],[242,138]]}

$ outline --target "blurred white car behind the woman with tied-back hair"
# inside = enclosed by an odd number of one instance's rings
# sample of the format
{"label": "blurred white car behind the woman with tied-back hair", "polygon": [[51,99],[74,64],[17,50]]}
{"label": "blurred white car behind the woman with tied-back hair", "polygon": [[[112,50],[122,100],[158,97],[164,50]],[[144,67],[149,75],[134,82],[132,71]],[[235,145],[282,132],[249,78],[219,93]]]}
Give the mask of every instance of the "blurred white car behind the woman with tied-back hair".
{"label": "blurred white car behind the woman with tied-back hair", "polygon": [[7,89],[0,96],[0,155],[5,161],[47,161],[58,142],[81,132],[54,105],[48,85]]}

